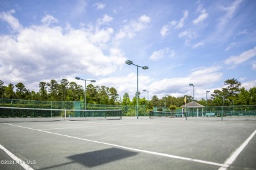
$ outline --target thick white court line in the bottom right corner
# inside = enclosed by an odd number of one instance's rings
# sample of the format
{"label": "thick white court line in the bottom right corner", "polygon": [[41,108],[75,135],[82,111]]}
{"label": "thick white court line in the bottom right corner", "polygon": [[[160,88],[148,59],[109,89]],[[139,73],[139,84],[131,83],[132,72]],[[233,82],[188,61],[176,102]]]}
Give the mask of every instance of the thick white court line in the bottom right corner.
{"label": "thick white court line in the bottom right corner", "polygon": [[[253,139],[254,135],[256,134],[256,130],[251,133],[251,135],[244,141],[244,143],[239,146],[239,148],[236,149],[234,153],[231,154],[231,156],[224,162],[225,165],[228,165],[228,167],[236,160],[238,155],[244,150],[245,146]],[[220,167],[219,170],[226,170],[228,167]]]}

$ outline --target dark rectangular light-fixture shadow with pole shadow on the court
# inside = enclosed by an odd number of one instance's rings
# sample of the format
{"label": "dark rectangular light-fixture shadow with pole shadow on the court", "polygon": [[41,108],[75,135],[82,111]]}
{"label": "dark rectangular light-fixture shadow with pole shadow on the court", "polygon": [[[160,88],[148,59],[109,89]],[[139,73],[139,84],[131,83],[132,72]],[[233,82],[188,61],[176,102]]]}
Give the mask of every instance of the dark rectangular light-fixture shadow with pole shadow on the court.
{"label": "dark rectangular light-fixture shadow with pole shadow on the court", "polygon": [[81,165],[84,165],[85,167],[96,167],[104,163],[110,163],[112,161],[122,160],[125,158],[129,158],[131,156],[135,156],[137,154],[138,154],[137,152],[123,150],[120,148],[108,148],[108,149],[96,150],[93,152],[87,152],[83,154],[75,154],[72,156],[68,156],[67,158],[72,161],[68,163],[54,165],[51,167],[45,167],[43,169],[53,169],[53,168],[62,167],[64,165],[68,165],[72,163],[79,163]]}

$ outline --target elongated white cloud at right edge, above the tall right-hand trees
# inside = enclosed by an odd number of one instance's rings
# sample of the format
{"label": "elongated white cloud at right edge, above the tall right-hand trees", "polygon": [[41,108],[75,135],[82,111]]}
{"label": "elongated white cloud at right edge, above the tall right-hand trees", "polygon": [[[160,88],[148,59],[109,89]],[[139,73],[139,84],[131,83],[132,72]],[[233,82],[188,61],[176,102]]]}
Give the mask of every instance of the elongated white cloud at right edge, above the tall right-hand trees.
{"label": "elongated white cloud at right edge, above the tall right-hand trees", "polygon": [[251,50],[247,50],[240,54],[239,56],[232,56],[226,60],[224,60],[224,63],[227,65],[239,65],[241,63],[244,63],[245,61],[253,58],[256,56],[256,46],[252,48]]}

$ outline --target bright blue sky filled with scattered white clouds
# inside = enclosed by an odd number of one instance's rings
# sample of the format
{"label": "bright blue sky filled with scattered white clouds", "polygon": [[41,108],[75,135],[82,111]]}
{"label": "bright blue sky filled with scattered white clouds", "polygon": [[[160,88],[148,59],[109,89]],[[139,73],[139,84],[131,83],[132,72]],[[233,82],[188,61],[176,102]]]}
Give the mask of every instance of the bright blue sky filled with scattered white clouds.
{"label": "bright blue sky filled with scattered white clouds", "polygon": [[39,82],[62,78],[84,86],[205,98],[236,78],[256,84],[256,1],[2,0],[0,80]]}

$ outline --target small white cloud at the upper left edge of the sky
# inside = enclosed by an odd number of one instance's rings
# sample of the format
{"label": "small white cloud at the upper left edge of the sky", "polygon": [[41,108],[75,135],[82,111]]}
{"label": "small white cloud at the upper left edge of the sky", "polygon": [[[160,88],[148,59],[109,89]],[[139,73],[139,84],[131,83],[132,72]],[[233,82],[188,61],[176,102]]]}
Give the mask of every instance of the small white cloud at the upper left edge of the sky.
{"label": "small white cloud at the upper left edge of the sky", "polygon": [[14,16],[12,16],[14,13],[15,10],[10,10],[9,12],[1,12],[0,19],[7,22],[14,31],[20,31],[22,29],[22,25],[16,18],[14,18]]}

